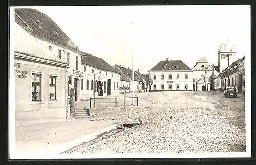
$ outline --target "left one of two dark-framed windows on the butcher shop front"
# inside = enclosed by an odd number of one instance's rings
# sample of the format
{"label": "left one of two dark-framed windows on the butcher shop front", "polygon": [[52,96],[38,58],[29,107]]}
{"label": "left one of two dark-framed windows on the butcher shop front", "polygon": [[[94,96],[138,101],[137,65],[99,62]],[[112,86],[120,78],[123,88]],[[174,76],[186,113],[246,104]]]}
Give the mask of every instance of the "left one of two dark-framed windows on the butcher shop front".
{"label": "left one of two dark-framed windows on the butcher shop front", "polygon": [[32,101],[41,101],[41,74],[32,73]]}

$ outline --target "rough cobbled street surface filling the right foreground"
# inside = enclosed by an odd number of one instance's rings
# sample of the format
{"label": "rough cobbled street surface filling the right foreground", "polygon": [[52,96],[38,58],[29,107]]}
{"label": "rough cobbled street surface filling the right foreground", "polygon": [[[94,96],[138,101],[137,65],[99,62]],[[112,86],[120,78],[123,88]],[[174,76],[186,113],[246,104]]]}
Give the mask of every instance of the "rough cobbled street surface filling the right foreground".
{"label": "rough cobbled street surface filling the right foreground", "polygon": [[245,152],[245,102],[221,92],[152,92],[140,98],[148,108],[109,113],[90,120],[138,122],[78,153]]}

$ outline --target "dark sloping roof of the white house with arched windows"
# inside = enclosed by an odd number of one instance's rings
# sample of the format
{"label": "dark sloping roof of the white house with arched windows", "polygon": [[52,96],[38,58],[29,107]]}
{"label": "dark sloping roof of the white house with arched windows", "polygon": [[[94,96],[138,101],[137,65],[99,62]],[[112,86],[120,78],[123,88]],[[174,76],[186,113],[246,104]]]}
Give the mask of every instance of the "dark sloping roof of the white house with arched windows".
{"label": "dark sloping roof of the white house with arched windows", "polygon": [[120,74],[117,70],[115,70],[109,63],[107,63],[104,59],[93,56],[92,54],[82,52],[83,54],[86,54],[87,58],[82,58],[82,64],[89,65],[92,67],[96,67],[98,69],[102,69],[105,71],[111,71],[114,73]]}

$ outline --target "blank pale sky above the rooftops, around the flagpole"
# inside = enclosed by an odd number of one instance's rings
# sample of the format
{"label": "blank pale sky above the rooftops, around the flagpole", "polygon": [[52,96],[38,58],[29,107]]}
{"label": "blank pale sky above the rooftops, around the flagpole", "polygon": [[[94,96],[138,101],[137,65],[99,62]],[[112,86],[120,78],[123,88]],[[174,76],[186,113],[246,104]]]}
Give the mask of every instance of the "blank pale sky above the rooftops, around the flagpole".
{"label": "blank pale sky above the rooftops, around the flagpole", "polygon": [[110,65],[147,74],[159,61],[199,57],[217,63],[226,40],[237,57],[250,56],[250,6],[70,6],[33,7],[47,14],[85,52]]}

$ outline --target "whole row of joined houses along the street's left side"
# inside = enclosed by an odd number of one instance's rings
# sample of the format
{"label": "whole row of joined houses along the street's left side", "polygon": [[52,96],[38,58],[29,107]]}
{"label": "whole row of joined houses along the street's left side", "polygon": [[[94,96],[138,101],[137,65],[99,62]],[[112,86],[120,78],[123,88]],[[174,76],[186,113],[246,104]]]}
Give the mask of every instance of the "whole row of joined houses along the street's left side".
{"label": "whole row of joined houses along the street's left side", "polygon": [[16,120],[68,118],[70,89],[75,100],[142,92],[147,79],[135,71],[111,66],[104,59],[79,50],[47,15],[35,9],[15,9]]}

